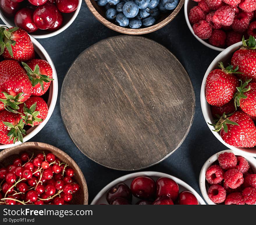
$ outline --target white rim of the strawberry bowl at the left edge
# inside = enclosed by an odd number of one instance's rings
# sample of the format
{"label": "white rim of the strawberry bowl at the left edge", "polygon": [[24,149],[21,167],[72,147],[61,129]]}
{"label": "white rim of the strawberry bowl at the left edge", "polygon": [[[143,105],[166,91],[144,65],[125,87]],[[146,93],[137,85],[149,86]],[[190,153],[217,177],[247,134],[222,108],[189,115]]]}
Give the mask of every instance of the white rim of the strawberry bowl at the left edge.
{"label": "white rim of the strawberry bowl at the left edge", "polygon": [[[0,26],[4,26],[4,25],[0,24]],[[51,96],[50,106],[48,108],[48,115],[42,123],[35,126],[33,131],[31,131],[29,134],[27,134],[23,137],[23,142],[28,141],[29,139],[34,137],[40,130],[42,130],[42,128],[48,122],[48,120],[50,119],[50,117],[53,113],[53,110],[54,110],[55,105],[56,105],[57,97],[58,97],[58,78],[57,78],[56,69],[55,69],[54,64],[51,60],[51,57],[49,56],[47,51],[44,49],[44,47],[42,47],[42,45],[37,40],[35,40],[31,36],[30,36],[30,38],[31,38],[31,41],[32,41],[33,45],[35,47],[37,47],[38,49],[40,49],[40,51],[42,52],[42,55],[45,57],[46,61],[51,65],[51,67],[52,67],[52,78],[54,80],[51,82],[52,96]],[[0,149],[7,149],[7,148],[10,148],[10,147],[14,147],[16,145],[19,145],[19,144],[22,144],[22,143],[21,142],[16,142],[15,144],[0,144]]]}

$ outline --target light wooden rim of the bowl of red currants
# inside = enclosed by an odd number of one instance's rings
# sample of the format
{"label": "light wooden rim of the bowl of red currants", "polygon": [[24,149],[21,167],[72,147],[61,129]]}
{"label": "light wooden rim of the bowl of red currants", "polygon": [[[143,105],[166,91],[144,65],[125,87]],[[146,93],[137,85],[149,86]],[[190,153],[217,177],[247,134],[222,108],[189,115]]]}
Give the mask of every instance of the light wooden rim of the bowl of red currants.
{"label": "light wooden rim of the bowl of red currants", "polygon": [[[25,143],[22,143],[22,144],[19,144],[17,146],[14,146],[14,147],[10,147],[8,149],[3,149],[1,152],[0,152],[0,158],[2,156],[4,156],[6,153],[9,153],[11,151],[13,151],[14,149],[16,148],[20,148],[20,147],[23,147],[23,146],[27,146],[27,147],[34,147],[34,146],[38,146],[38,147],[42,147],[42,148],[46,148],[46,145],[50,148],[52,148],[53,150],[57,150],[61,153],[61,155],[63,155],[65,158],[67,158],[70,162],[72,162],[72,164],[74,165],[77,165],[77,163],[67,154],[65,153],[64,151],[62,151],[61,149],[51,145],[51,144],[47,144],[47,143],[42,143],[42,142],[25,142]],[[49,150],[50,151],[50,150]],[[78,172],[80,173],[79,176],[81,178],[81,181],[82,183],[84,184],[83,186],[83,189],[84,189],[84,200],[83,200],[83,205],[88,205],[88,187],[87,187],[87,183],[86,183],[86,180],[85,180],[85,177],[83,175],[83,172],[81,171],[80,167],[77,165],[77,170]],[[86,194],[87,193],[87,194]]]}

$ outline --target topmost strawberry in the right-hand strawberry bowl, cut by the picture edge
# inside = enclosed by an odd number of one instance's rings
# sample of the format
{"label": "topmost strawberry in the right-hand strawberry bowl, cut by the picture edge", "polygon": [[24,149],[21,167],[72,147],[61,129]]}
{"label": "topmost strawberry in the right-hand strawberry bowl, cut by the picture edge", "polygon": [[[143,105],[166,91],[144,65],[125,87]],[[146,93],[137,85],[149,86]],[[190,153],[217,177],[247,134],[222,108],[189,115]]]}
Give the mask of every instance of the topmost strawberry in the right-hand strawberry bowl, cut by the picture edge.
{"label": "topmost strawberry in the right-hand strawberry bowl, cut by the picture edge", "polygon": [[235,51],[231,58],[231,64],[234,67],[238,66],[239,77],[242,81],[252,79],[252,82],[256,82],[256,41],[253,36],[250,36],[248,40],[242,39],[243,46]]}

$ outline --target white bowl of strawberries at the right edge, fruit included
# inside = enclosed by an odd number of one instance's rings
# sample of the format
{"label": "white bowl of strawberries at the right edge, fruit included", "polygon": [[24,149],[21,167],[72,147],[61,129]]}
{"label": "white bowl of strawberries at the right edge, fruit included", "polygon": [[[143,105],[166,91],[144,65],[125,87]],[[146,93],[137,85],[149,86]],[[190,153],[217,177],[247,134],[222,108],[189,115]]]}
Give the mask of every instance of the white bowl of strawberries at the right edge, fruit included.
{"label": "white bowl of strawberries at the right edge, fruit included", "polygon": [[215,137],[238,154],[254,157],[255,48],[255,38],[250,36],[221,52],[208,67],[200,93],[202,113]]}

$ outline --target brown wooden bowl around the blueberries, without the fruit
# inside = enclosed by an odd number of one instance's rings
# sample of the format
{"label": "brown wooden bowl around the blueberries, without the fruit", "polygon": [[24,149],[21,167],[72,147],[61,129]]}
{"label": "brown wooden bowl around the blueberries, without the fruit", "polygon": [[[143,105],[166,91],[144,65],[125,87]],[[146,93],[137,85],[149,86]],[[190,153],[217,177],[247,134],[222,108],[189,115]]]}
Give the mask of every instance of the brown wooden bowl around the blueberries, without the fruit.
{"label": "brown wooden bowl around the blueberries, without the fruit", "polygon": [[160,28],[164,27],[166,24],[170,23],[175,16],[179,13],[181,10],[184,0],[180,0],[179,4],[174,10],[170,10],[171,13],[161,13],[161,17],[157,20],[157,23],[153,26],[149,26],[146,28],[140,28],[140,29],[131,29],[126,27],[121,27],[115,24],[115,22],[111,22],[108,19],[106,19],[105,13],[106,10],[102,6],[98,6],[97,1],[95,0],[85,0],[89,10],[93,13],[93,15],[96,17],[99,22],[104,24],[106,27],[123,33],[123,34],[134,34],[134,35],[141,35],[141,34],[147,34],[151,33],[153,31],[157,31]]}

